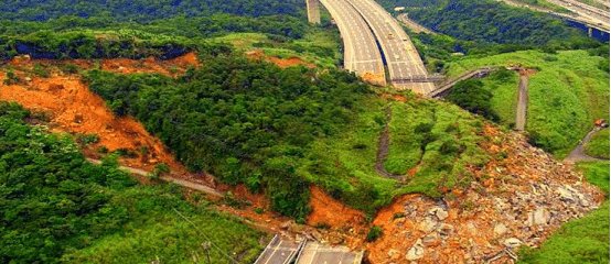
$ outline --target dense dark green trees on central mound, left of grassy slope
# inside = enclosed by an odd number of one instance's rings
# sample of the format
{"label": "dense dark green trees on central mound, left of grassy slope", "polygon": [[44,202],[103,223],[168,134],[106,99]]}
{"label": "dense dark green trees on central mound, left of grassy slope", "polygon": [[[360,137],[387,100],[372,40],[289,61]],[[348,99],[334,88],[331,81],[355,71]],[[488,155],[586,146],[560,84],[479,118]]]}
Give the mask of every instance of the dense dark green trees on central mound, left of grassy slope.
{"label": "dense dark green trees on central mound, left of grassy slope", "polygon": [[117,114],[141,120],[191,169],[265,187],[275,209],[293,217],[308,212],[308,184],[294,161],[314,139],[349,123],[368,92],[346,73],[280,69],[236,55],[208,58],[179,80],[97,70],[87,80]]}

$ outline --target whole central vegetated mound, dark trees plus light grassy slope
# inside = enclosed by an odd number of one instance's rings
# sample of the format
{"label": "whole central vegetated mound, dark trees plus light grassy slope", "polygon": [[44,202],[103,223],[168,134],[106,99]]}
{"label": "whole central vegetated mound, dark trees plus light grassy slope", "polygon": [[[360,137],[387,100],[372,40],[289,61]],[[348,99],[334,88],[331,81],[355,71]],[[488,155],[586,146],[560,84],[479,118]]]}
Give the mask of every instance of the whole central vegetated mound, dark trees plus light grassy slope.
{"label": "whole central vegetated mound, dark trees plus light grassy slope", "polygon": [[[440,196],[468,180],[467,164],[485,160],[475,118],[415,98],[387,106],[354,75],[333,69],[280,69],[226,54],[179,79],[97,70],[86,79],[115,113],[139,119],[192,170],[265,191],[272,209],[298,219],[309,212],[310,184],[373,212],[399,194]],[[392,120],[388,108],[397,112]],[[385,167],[405,175],[418,167],[406,183],[374,170],[386,122]]]}

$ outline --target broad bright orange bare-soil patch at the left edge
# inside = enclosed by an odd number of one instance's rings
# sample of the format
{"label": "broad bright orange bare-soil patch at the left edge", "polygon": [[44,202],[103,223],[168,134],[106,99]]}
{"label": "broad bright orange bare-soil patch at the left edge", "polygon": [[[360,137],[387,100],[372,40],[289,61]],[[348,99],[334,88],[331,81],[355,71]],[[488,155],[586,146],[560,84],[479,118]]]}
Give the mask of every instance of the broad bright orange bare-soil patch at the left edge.
{"label": "broad bright orange bare-soil patch at the left edge", "polygon": [[[172,170],[185,170],[142,124],[129,117],[115,117],[104,100],[79,79],[72,76],[31,78],[24,85],[0,85],[0,100],[50,113],[53,131],[98,135],[99,142],[87,147],[89,156],[95,156],[101,146],[110,152],[127,148],[138,153],[136,158],[122,158],[121,163],[127,166],[151,169],[157,163],[165,163]],[[144,148],[146,154],[140,151]]]}

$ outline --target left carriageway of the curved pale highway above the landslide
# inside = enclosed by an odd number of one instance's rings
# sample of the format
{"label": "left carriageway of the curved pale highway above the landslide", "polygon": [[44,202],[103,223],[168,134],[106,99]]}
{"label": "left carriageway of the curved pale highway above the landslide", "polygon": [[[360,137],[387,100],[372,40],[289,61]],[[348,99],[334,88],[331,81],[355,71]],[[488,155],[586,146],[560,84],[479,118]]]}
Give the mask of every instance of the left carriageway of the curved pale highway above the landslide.
{"label": "left carriageway of the curved pale highway above the landslide", "polygon": [[321,0],[329,10],[344,42],[344,67],[367,81],[385,86],[382,54],[374,34],[361,14],[345,0]]}

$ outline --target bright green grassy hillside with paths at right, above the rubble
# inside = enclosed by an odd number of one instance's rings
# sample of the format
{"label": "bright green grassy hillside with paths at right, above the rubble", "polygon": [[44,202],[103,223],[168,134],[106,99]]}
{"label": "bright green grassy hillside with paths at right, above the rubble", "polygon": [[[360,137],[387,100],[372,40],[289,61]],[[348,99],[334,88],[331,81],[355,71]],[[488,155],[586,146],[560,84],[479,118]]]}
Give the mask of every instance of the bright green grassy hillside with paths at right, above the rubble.
{"label": "bright green grassy hillside with paths at right, above the rubble", "polygon": [[[564,157],[577,145],[599,118],[609,119],[609,61],[590,56],[586,51],[547,54],[537,51],[515,52],[489,57],[464,57],[449,63],[448,75],[458,76],[482,66],[516,66],[538,70],[530,77],[526,131],[532,141]],[[484,79],[495,86],[494,80]],[[496,84],[499,85],[499,84]],[[502,123],[514,118],[517,82],[494,88],[493,105]]]}

